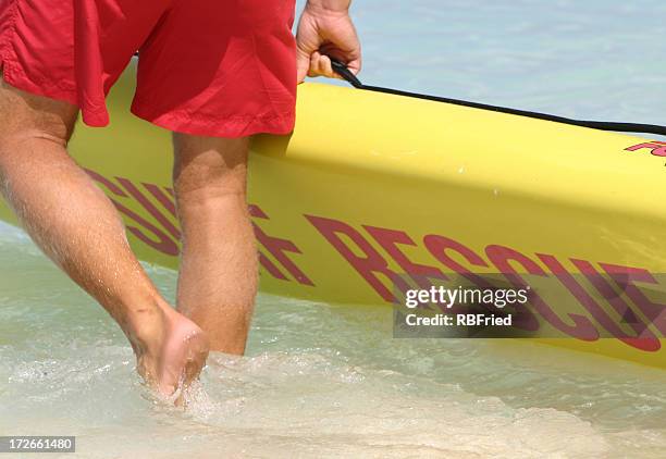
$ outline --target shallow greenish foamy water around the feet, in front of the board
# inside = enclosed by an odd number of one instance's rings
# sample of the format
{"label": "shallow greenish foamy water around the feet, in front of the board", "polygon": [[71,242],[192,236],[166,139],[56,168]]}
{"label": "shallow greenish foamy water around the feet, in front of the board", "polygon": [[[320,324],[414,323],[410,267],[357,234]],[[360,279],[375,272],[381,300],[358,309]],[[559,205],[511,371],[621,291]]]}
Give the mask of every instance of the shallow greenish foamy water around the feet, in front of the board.
{"label": "shallow greenish foamy water around the feet, in front of the board", "polygon": [[[124,336],[0,226],[0,432],[86,457],[655,457],[666,373],[538,345],[392,339],[391,310],[258,299],[248,357],[213,356],[187,410]],[[11,261],[11,262],[10,262]],[[175,273],[147,266],[173,297]]]}

